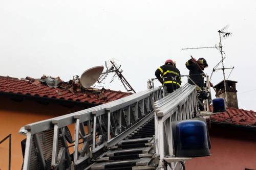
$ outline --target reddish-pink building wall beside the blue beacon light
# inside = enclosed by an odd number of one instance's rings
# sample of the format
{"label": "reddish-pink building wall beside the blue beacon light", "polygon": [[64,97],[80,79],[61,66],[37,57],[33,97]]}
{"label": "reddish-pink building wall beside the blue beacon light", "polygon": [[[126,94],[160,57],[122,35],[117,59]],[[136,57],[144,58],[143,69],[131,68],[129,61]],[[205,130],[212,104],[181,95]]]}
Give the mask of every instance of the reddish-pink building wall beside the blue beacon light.
{"label": "reddish-pink building wall beside the blue beacon light", "polygon": [[187,161],[186,169],[256,169],[256,131],[213,126],[209,133],[211,156]]}

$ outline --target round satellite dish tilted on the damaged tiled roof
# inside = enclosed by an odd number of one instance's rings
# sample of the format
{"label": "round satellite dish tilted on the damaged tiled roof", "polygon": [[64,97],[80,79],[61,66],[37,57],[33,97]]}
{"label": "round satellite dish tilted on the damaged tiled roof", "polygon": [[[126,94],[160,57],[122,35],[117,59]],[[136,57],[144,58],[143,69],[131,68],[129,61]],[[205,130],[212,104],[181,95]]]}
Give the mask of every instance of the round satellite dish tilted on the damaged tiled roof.
{"label": "round satellite dish tilted on the damaged tiled roof", "polygon": [[91,87],[100,77],[104,66],[96,66],[84,71],[80,78],[80,83],[83,88]]}

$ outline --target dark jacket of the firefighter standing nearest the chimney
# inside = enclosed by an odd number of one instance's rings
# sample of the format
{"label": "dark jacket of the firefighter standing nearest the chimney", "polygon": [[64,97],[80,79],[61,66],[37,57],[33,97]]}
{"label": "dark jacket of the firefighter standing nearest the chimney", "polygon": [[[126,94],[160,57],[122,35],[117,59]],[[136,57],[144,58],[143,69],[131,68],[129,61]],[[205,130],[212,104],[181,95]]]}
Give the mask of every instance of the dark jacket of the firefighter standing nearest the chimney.
{"label": "dark jacket of the firefighter standing nearest the chimney", "polygon": [[[186,62],[186,67],[189,69],[189,78],[192,79],[201,89],[204,87],[204,78],[202,70],[198,67],[196,63],[192,61],[192,59]],[[190,79],[188,79],[189,84],[195,85]]]}

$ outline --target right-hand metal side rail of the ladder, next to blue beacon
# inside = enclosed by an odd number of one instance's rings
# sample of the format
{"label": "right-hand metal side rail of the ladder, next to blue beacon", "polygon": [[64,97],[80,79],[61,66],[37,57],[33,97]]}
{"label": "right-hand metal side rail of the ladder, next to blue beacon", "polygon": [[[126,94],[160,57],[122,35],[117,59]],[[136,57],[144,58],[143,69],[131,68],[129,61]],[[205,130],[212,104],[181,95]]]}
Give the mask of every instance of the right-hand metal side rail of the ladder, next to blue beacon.
{"label": "right-hand metal side rail of the ladder, next to blue beacon", "polygon": [[[195,85],[185,84],[178,90],[154,103],[156,154],[159,155],[159,169],[165,169],[165,159],[174,157],[172,122],[193,118],[197,110]],[[184,163],[184,161],[183,161]],[[171,169],[181,169],[177,161],[169,164]]]}

